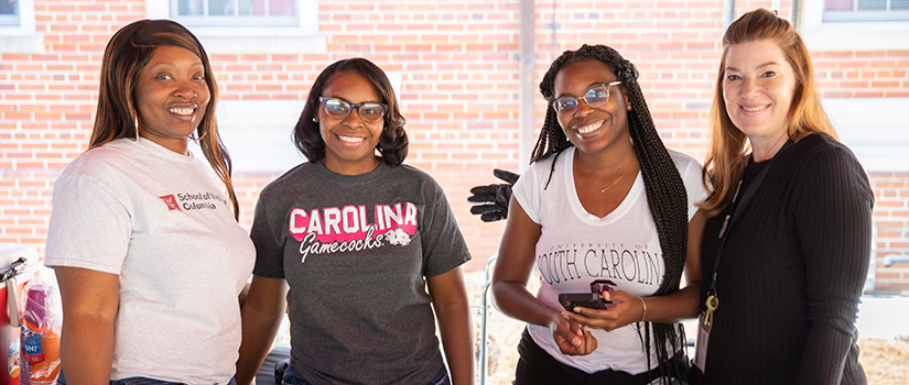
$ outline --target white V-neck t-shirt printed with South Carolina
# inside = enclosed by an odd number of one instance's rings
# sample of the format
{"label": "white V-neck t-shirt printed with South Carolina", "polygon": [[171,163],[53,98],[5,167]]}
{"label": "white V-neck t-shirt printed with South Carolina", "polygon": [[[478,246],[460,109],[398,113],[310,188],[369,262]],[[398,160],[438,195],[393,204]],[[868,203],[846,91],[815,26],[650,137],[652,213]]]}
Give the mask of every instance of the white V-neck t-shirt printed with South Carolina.
{"label": "white V-neck t-shirt printed with South Carolina", "polygon": [[[587,212],[577,198],[572,173],[575,147],[532,164],[515,185],[515,197],[533,222],[542,227],[537,242],[537,268],[542,277],[537,297],[562,309],[560,293],[591,293],[591,283],[608,279],[616,290],[651,296],[660,287],[664,263],[657,227],[650,216],[643,179],[638,173],[631,190],[606,217]],[[670,151],[688,190],[689,219],[694,204],[707,197],[701,184],[701,165],[693,157]],[[684,191],[679,191],[685,194]],[[592,329],[597,349],[588,355],[562,354],[547,327],[529,324],[533,341],[562,363],[587,373],[607,369],[638,374],[647,371],[647,358],[635,323],[605,331]],[[653,339],[651,338],[651,341]],[[651,342],[651,363],[657,362]]]}

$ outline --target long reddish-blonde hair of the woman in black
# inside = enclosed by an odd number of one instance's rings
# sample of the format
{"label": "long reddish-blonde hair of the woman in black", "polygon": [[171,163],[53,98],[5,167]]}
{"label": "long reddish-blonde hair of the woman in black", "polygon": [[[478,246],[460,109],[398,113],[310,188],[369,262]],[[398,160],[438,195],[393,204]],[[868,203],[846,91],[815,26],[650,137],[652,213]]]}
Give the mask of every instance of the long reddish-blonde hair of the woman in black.
{"label": "long reddish-blonde hair of the woman in black", "polygon": [[766,9],[745,13],[729,24],[723,36],[723,56],[716,76],[716,88],[711,108],[711,143],[704,162],[703,182],[710,179],[713,194],[700,206],[713,216],[732,201],[735,185],[747,163],[747,138],[739,131],[726,111],[723,99],[723,78],[726,72],[726,55],[729,47],[739,44],[768,40],[782,50],[796,75],[796,90],[787,114],[787,134],[792,140],[815,132],[823,132],[837,139],[836,132],[821,105],[821,96],[814,81],[814,67],[808,48],[792,25]]}

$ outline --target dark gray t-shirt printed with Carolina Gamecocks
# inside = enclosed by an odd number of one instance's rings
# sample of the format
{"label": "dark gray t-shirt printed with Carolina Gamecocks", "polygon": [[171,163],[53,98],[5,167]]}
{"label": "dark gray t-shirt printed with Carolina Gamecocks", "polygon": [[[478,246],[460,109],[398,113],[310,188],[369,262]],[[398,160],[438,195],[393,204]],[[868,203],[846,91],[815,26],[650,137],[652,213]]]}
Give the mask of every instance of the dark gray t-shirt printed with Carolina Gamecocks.
{"label": "dark gray t-shirt printed with Carolina Gamecocks", "polygon": [[286,278],[291,365],[315,384],[422,384],[442,369],[425,277],[470,260],[435,180],[304,163],[256,207],[253,274]]}

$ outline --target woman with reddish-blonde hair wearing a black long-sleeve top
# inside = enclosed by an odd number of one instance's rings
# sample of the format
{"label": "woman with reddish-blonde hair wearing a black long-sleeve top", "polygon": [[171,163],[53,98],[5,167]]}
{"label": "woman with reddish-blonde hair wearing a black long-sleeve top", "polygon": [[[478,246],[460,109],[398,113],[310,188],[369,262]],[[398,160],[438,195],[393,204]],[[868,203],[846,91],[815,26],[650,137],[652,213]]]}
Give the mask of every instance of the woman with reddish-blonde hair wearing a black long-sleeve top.
{"label": "woman with reddish-blonde hair wearing a black long-sleeve top", "polygon": [[865,384],[855,320],[874,195],[836,140],[789,22],[759,9],[729,25],[711,120],[701,287],[712,322],[697,346],[706,382]]}

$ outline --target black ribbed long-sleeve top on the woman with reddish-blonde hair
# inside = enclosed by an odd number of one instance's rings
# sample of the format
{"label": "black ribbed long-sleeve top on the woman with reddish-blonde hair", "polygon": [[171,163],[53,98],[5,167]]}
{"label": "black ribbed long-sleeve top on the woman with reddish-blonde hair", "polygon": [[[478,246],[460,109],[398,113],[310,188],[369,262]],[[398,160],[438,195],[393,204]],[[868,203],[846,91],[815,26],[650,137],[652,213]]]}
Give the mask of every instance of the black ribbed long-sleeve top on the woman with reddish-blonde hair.
{"label": "black ribbed long-sleeve top on the woman with reddish-blonde hair", "polygon": [[[826,134],[749,162],[742,191],[761,167],[721,257],[708,384],[865,384],[855,320],[870,257],[867,176]],[[704,229],[702,304],[728,211]]]}

